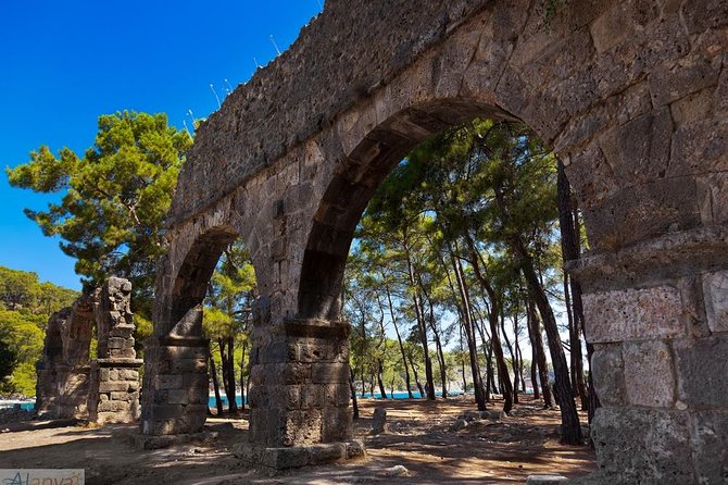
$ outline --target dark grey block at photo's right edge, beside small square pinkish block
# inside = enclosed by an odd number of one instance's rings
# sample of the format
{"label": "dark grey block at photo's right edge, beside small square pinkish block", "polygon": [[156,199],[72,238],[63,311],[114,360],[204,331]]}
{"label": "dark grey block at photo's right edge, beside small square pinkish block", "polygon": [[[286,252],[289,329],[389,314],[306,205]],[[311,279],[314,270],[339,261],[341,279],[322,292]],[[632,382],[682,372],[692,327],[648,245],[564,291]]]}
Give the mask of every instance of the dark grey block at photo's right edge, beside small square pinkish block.
{"label": "dark grey block at photo's right edge, beside small square pinkish block", "polygon": [[728,335],[673,343],[678,395],[690,408],[728,409]]}

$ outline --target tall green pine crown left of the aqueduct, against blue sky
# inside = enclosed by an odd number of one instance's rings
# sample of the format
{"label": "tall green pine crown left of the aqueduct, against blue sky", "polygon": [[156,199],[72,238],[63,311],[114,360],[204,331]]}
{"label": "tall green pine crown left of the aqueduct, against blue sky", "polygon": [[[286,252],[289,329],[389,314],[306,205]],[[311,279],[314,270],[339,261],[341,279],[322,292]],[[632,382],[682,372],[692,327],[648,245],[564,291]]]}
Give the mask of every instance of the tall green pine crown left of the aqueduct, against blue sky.
{"label": "tall green pine crown left of the aqueduct, against blue sky", "polygon": [[[10,184],[58,192],[47,211],[26,209],[47,236],[60,236],[88,287],[112,275],[131,279],[137,312],[149,313],[154,264],[164,252],[163,217],[192,139],[164,114],[123,112],[99,117],[93,147],[80,158],[46,146],[7,169]],[[142,297],[142,299],[140,299]]]}

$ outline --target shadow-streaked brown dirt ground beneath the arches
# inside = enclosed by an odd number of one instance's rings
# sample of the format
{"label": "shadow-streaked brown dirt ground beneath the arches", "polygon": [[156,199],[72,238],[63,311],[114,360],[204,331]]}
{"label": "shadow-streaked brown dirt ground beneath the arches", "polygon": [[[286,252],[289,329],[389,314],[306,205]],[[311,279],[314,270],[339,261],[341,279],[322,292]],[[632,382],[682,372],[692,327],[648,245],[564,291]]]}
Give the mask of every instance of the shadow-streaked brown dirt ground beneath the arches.
{"label": "shadow-streaked brown dirt ground beneath the arches", "polygon": [[[523,399],[523,398],[522,398]],[[477,421],[452,431],[459,414],[475,410],[473,398],[362,400],[355,437],[367,458],[307,468],[271,476],[241,465],[229,447],[246,439],[247,421],[211,419],[211,443],[139,451],[134,425],[92,428],[63,423],[27,422],[0,425],[0,468],[85,469],[88,484],[507,484],[526,483],[534,473],[568,477],[595,469],[588,446],[558,444],[557,410],[540,409],[530,398],[500,422]],[[390,433],[368,434],[375,407],[387,409]],[[494,402],[491,409],[499,409]],[[582,422],[586,418],[582,416]],[[406,473],[398,469],[401,465]]]}

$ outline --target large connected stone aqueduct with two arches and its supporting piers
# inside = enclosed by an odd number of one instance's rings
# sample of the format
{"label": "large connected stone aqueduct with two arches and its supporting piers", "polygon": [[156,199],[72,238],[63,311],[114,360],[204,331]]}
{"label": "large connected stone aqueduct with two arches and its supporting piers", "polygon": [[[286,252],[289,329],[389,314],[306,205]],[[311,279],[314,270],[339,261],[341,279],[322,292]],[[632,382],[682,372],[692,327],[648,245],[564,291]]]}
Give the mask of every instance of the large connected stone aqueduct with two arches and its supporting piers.
{"label": "large connected stone aqueduct with two arches and its supporting piers", "polygon": [[564,160],[585,212],[591,252],[569,271],[595,346],[600,476],[725,483],[727,52],[725,0],[328,0],[199,129],[159,265],[142,432],[204,423],[199,304],[241,237],[262,293],[242,456],[355,452],[339,294],[361,213],[430,135],[514,119]]}

